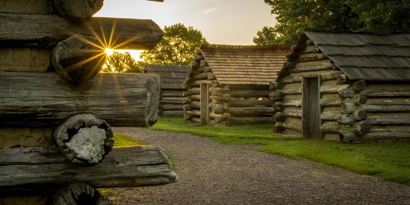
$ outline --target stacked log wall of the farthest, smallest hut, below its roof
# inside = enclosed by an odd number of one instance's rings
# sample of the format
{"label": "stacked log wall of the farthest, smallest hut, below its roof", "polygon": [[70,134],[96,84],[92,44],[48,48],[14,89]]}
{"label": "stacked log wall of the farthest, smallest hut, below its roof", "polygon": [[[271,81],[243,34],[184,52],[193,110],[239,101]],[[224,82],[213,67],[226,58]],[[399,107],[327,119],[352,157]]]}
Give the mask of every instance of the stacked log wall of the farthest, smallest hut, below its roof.
{"label": "stacked log wall of the farthest, smallest hut, below its roof", "polygon": [[183,92],[187,90],[162,89],[158,114],[161,116],[183,116]]}

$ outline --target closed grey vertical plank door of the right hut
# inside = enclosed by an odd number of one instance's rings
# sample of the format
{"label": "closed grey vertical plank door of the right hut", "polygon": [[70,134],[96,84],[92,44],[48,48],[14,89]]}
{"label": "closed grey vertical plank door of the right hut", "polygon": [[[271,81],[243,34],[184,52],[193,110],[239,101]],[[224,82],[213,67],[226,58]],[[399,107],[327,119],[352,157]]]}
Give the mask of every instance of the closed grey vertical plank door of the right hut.
{"label": "closed grey vertical plank door of the right hut", "polygon": [[302,134],[306,139],[320,139],[320,79],[304,77],[302,81]]}

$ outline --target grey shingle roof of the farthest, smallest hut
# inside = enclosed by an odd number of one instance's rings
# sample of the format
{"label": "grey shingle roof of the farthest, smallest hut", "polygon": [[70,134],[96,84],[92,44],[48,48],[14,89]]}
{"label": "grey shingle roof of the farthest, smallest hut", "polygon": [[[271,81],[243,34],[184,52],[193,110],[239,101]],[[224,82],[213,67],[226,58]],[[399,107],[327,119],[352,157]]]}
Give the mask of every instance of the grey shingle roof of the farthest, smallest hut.
{"label": "grey shingle roof of the farthest, smallest hut", "polygon": [[190,68],[190,66],[147,64],[148,73],[161,76],[161,89],[182,89],[182,83]]}

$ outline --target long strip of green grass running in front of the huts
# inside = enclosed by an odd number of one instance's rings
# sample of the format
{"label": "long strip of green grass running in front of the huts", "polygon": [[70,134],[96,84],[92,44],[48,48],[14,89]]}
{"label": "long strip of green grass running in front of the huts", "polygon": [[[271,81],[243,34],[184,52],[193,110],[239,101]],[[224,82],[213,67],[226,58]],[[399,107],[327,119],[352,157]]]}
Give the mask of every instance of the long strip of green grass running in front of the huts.
{"label": "long strip of green grass running in front of the huts", "polygon": [[182,118],[159,117],[151,130],[190,133],[213,137],[223,144],[262,145],[259,151],[293,159],[306,158],[383,180],[410,186],[410,142],[344,144],[324,140],[274,135],[272,125],[245,125],[227,128],[191,125]]}

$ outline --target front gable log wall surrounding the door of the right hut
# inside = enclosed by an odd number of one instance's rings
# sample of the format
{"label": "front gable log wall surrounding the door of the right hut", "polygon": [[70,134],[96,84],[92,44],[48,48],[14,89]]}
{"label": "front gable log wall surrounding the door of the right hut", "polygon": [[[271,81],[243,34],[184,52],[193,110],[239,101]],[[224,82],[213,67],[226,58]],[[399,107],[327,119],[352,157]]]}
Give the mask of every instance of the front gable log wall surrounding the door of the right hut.
{"label": "front gable log wall surrounding the door of the right hut", "polygon": [[[326,140],[340,140],[340,134],[366,134],[370,126],[363,118],[353,117],[355,113],[343,115],[341,106],[353,101],[343,96],[344,90],[356,89],[362,82],[344,80],[343,73],[316,46],[308,40],[304,45],[294,46],[277,82],[271,84],[274,91],[271,100],[276,110],[275,132],[302,136],[302,79],[320,76],[320,120],[321,136]],[[363,86],[359,89],[364,89]],[[352,90],[353,91],[353,90]],[[356,91],[353,94],[358,94]],[[355,96],[358,97],[358,96]],[[358,103],[365,103],[365,100]],[[350,120],[348,123],[344,122]]]}

